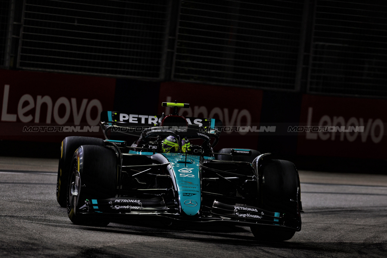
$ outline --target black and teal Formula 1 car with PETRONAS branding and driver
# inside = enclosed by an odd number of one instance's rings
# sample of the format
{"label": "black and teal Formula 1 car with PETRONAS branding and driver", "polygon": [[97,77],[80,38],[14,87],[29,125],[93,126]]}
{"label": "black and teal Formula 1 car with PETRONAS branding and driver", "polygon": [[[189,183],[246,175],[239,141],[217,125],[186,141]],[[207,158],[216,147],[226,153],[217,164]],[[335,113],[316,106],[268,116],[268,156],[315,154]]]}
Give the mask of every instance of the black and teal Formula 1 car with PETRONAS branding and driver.
{"label": "black and teal Formula 1 car with PETRONAS branding and driver", "polygon": [[[106,140],[66,137],[57,200],[75,224],[165,220],[250,226],[258,240],[284,241],[301,230],[295,165],[252,149],[213,147],[217,119],[102,112]],[[138,136],[128,144],[122,136]],[[120,138],[121,137],[121,138]]]}

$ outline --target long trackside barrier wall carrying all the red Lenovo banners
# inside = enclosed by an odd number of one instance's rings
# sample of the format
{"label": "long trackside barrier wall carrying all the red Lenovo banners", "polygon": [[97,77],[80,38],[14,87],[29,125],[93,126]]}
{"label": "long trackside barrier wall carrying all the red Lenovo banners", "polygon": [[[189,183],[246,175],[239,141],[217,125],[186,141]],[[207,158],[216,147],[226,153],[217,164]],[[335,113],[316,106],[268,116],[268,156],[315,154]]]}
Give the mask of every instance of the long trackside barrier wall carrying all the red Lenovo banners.
{"label": "long trackside barrier wall carrying all the red Lenovo banners", "polygon": [[238,128],[223,132],[216,149],[258,149],[303,159],[312,168],[321,157],[372,163],[387,156],[387,100],[381,99],[0,70],[0,100],[0,154],[20,149],[14,141],[42,148],[41,142],[56,146],[70,135],[101,137],[100,110],[161,114],[170,112],[161,102],[177,100],[190,104],[180,110],[183,115],[217,118]]}

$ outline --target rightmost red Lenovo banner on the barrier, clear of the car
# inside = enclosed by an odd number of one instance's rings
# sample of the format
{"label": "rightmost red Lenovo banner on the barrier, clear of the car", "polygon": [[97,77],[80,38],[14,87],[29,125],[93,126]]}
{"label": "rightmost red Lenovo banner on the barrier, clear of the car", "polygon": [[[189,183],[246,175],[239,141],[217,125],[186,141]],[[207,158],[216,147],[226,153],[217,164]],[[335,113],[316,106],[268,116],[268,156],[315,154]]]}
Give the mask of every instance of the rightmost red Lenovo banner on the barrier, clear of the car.
{"label": "rightmost red Lenovo banner on the barrier, clear of the car", "polygon": [[303,95],[297,154],[387,158],[385,110],[387,100]]}

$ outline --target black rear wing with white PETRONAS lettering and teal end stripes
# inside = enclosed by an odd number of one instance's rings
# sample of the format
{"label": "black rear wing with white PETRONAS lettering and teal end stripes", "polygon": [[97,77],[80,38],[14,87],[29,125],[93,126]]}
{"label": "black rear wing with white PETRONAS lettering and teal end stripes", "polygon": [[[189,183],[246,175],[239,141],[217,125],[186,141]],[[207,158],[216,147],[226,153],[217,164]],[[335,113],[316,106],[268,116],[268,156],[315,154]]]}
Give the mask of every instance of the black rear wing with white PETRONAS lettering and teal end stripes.
{"label": "black rear wing with white PETRONAS lettering and teal end stripes", "polygon": [[[160,126],[161,115],[139,115],[139,114],[126,114],[116,111],[103,111],[101,112],[101,124],[104,125],[103,129],[109,127],[136,127],[147,129],[149,127]],[[188,127],[201,129],[209,133],[220,134],[218,130],[222,126],[222,121],[219,119],[199,118],[199,117],[185,117],[187,119]],[[143,130],[128,131],[126,134],[139,136]]]}

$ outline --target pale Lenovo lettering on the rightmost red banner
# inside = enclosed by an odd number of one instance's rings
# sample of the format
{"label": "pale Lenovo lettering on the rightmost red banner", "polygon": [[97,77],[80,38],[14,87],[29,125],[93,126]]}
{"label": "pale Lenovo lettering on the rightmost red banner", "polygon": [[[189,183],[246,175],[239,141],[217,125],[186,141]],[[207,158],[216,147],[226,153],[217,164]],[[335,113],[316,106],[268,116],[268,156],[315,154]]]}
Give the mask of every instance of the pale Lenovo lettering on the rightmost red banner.
{"label": "pale Lenovo lettering on the rightmost red banner", "polygon": [[[308,127],[312,127],[312,115],[313,107],[309,107],[307,116]],[[328,132],[307,131],[305,136],[306,139],[317,140],[317,138],[320,138],[323,141],[326,141],[328,139],[334,141],[336,139],[336,132],[338,131],[340,133],[340,141],[344,141],[345,136],[347,141],[353,142],[358,138],[358,135],[360,133],[361,142],[365,143],[367,141],[368,135],[370,135],[371,141],[373,143],[380,143],[384,135],[384,124],[381,119],[373,120],[370,118],[366,123],[364,123],[364,119],[362,117],[351,117],[348,119],[348,121],[345,121],[344,117],[342,116],[334,116],[331,118],[329,115],[323,115],[322,117],[320,117],[319,126],[328,127]],[[331,127],[334,130],[330,130]],[[353,130],[353,128],[360,128],[362,130]]]}

